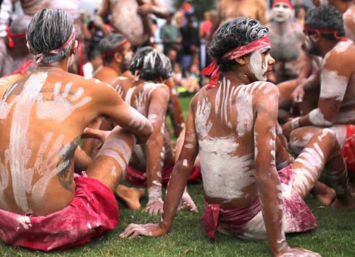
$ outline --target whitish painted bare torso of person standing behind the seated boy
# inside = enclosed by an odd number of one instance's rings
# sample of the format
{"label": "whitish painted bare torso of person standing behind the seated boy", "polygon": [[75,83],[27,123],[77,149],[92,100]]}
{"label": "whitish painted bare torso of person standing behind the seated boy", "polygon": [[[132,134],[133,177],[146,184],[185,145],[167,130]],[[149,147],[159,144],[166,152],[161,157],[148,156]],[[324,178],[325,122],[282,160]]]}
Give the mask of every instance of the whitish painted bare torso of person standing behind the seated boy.
{"label": "whitish painted bare torso of person standing behind the seated boy", "polygon": [[148,40],[148,35],[144,33],[142,18],[137,13],[137,0],[110,0],[110,8],[113,28],[124,35],[132,45],[141,45]]}

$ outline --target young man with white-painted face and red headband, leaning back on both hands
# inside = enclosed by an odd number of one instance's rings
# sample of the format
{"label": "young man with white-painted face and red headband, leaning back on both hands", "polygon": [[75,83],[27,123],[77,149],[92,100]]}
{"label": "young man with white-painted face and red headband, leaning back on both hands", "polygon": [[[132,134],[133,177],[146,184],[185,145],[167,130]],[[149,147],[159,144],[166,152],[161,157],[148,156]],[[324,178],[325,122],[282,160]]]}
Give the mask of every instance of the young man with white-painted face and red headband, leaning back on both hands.
{"label": "young man with white-painted face and red headband, leaning back on both hands", "polygon": [[163,219],[159,224],[131,224],[121,237],[169,232],[199,154],[206,201],[202,223],[210,238],[218,230],[244,239],[268,239],[273,256],[320,256],[289,247],[285,233],[317,227],[303,198],[325,165],[332,172],[338,200],[355,205],[334,132],[318,132],[295,161],[277,172],[278,90],[266,82],[274,63],[268,29],[250,18],[227,21],[218,29],[209,54],[215,61],[204,74],[212,75],[211,84],[191,101]]}

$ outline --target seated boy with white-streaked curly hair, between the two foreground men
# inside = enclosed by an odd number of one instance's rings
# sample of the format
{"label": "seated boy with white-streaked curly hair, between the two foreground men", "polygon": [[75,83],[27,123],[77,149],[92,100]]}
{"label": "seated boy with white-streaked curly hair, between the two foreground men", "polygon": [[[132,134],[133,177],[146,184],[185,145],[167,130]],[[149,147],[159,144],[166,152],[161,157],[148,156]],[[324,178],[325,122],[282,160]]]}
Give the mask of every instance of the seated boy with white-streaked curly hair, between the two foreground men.
{"label": "seated boy with white-streaked curly hair, between the two foreground men", "polygon": [[[126,104],[148,118],[154,131],[146,145],[135,146],[126,179],[133,185],[147,186],[145,211],[156,215],[163,211],[162,186],[168,184],[175,163],[165,122],[169,88],[164,81],[171,76],[171,64],[165,55],[147,46],[137,51],[130,70],[135,74],[136,86],[121,88],[122,95]],[[196,210],[187,192],[183,202]]]}

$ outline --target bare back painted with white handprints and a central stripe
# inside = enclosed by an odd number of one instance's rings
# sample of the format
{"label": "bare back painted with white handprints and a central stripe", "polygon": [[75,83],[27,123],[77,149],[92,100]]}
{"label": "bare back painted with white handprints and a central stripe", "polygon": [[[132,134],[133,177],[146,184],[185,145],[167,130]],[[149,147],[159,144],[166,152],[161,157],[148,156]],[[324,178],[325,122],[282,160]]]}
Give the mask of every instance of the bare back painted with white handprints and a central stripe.
{"label": "bare back painted with white handprints and a central stripe", "polygon": [[97,115],[91,96],[102,85],[41,68],[2,86],[0,209],[46,215],[72,200],[74,151]]}

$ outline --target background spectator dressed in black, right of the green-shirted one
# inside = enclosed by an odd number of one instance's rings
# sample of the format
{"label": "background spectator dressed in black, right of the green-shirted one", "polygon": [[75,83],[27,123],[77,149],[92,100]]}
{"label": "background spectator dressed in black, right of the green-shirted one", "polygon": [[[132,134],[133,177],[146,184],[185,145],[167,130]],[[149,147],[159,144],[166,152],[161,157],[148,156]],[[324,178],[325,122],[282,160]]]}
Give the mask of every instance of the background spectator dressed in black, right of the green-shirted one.
{"label": "background spectator dressed in black, right of the green-shirted one", "polygon": [[187,14],[187,24],[181,28],[182,35],[182,59],[181,68],[186,72],[191,65],[194,55],[198,52],[199,36],[198,29],[193,26],[193,15]]}

